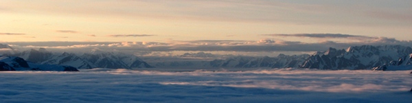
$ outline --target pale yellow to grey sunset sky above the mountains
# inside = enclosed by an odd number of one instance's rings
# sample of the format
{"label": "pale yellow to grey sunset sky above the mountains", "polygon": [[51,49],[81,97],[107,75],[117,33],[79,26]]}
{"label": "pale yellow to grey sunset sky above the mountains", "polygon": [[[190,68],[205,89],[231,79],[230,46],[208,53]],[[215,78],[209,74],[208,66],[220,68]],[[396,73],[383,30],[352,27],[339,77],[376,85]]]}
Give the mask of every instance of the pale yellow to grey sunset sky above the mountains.
{"label": "pale yellow to grey sunset sky above the mountains", "polygon": [[410,5],[409,0],[2,0],[0,43],[133,45],[148,52],[410,45]]}

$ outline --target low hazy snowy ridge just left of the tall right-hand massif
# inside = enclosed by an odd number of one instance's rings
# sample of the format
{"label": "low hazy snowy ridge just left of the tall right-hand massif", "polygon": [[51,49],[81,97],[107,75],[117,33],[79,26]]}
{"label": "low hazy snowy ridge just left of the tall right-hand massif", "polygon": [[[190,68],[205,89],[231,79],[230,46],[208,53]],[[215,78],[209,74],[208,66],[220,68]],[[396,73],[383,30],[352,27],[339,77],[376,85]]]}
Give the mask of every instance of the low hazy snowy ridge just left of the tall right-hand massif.
{"label": "low hazy snowy ridge just left of the tall right-hand massif", "polygon": [[275,58],[268,56],[264,57],[247,57],[237,56],[234,58],[227,58],[225,60],[213,60],[210,62],[211,67],[240,67],[240,68],[254,68],[254,67],[270,67],[270,68],[287,68],[299,67],[299,65],[308,58],[308,54],[286,56],[279,54]]}

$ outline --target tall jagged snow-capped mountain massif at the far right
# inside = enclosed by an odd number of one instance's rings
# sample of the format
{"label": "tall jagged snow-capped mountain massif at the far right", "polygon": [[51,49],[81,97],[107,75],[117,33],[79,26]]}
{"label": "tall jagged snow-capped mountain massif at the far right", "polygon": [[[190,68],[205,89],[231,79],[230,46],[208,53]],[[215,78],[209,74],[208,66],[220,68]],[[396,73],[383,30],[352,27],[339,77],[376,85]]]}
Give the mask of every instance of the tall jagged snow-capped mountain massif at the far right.
{"label": "tall jagged snow-capped mountain massif at the far right", "polygon": [[371,69],[412,54],[411,47],[400,45],[363,45],[348,49],[330,48],[310,56],[301,68],[310,69]]}

